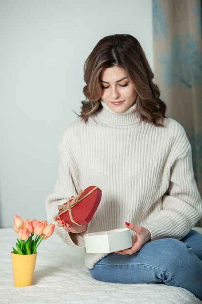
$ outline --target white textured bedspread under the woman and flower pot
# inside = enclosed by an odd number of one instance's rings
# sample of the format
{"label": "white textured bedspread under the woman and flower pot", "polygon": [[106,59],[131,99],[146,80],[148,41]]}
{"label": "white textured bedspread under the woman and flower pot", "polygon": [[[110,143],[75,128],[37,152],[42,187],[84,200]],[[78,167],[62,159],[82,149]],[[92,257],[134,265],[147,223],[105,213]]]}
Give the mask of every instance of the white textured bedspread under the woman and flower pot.
{"label": "white textured bedspread under the woman and flower pot", "polygon": [[38,248],[34,285],[15,288],[10,252],[16,239],[12,228],[0,229],[2,304],[202,304],[192,293],[179,287],[96,281],[84,266],[85,249],[67,246],[57,234],[42,241]]}

